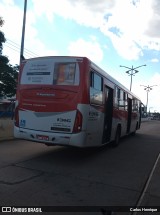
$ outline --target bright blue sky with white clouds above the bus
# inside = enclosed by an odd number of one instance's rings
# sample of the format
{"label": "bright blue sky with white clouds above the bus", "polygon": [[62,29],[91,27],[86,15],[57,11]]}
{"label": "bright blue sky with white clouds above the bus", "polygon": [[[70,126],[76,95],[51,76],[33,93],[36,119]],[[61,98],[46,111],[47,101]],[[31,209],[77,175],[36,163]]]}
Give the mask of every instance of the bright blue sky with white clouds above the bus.
{"label": "bright blue sky with white clouds above the bus", "polygon": [[[23,11],[24,0],[0,0],[3,55],[12,65],[19,64]],[[153,86],[148,111],[160,112],[159,11],[159,0],[28,0],[24,57],[85,56],[128,89],[125,67],[140,66],[132,92],[146,105],[144,86]]]}

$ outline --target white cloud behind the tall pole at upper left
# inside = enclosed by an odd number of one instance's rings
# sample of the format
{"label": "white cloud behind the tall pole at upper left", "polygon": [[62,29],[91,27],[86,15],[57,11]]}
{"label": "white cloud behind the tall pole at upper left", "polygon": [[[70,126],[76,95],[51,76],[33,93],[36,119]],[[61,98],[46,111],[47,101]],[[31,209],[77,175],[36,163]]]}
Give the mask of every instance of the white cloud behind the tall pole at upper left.
{"label": "white cloud behind the tall pole at upper left", "polygon": [[[11,64],[19,64],[23,10],[13,0],[3,0],[3,2],[0,2],[0,11],[5,21],[2,31],[7,39],[3,47],[3,53],[9,57]],[[47,49],[45,43],[39,39],[35,24],[36,16],[34,11],[28,9],[26,14],[24,57],[58,55],[57,51]]]}

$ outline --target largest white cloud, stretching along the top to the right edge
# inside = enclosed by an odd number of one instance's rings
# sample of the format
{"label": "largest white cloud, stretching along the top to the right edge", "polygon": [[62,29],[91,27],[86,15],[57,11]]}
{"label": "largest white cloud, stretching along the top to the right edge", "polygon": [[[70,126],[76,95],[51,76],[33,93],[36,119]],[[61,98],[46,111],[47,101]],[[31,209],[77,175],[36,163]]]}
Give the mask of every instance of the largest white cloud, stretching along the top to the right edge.
{"label": "largest white cloud, stretching along the top to the right edge", "polygon": [[[160,50],[159,0],[32,0],[37,16],[46,15],[51,22],[54,15],[75,20],[78,24],[99,28],[109,37],[120,56],[136,60],[143,49]],[[63,7],[62,7],[63,5]],[[156,15],[156,16],[155,16]],[[119,31],[111,32],[115,28]]]}

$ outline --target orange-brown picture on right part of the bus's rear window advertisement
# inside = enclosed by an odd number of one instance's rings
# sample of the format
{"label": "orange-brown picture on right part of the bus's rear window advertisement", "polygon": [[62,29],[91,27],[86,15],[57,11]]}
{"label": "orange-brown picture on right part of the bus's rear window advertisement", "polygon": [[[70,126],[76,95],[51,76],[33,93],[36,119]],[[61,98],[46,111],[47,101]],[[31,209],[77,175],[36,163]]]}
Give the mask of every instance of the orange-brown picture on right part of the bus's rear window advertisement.
{"label": "orange-brown picture on right part of the bus's rear window advertisement", "polygon": [[76,72],[76,63],[55,63],[54,85],[78,85],[79,73]]}

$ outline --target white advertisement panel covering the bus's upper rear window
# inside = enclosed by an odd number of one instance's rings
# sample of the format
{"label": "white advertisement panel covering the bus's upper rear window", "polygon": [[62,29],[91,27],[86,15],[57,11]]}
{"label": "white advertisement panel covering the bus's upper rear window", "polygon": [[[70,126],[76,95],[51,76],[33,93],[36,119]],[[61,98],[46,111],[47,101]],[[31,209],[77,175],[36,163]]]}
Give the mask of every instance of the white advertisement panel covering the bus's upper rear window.
{"label": "white advertisement panel covering the bus's upper rear window", "polygon": [[36,59],[24,65],[20,84],[79,85],[79,66],[76,62],[54,62]]}

